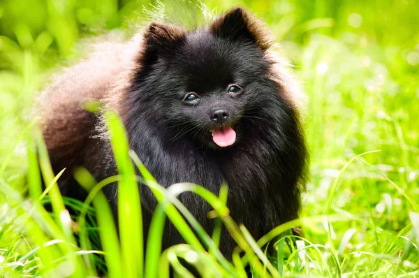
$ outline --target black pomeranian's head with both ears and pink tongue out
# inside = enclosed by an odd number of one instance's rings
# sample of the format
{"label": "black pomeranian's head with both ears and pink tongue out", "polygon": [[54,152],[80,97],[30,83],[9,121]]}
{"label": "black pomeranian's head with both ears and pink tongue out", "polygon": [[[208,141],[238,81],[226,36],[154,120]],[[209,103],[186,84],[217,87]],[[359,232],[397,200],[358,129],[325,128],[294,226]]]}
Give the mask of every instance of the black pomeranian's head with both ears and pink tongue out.
{"label": "black pomeranian's head with both ears and pink tongue out", "polygon": [[251,137],[244,134],[247,124],[260,122],[267,106],[281,102],[268,76],[268,36],[242,8],[199,31],[152,23],[144,43],[142,90],[162,104],[155,112],[172,123],[177,138],[214,148],[234,145]]}

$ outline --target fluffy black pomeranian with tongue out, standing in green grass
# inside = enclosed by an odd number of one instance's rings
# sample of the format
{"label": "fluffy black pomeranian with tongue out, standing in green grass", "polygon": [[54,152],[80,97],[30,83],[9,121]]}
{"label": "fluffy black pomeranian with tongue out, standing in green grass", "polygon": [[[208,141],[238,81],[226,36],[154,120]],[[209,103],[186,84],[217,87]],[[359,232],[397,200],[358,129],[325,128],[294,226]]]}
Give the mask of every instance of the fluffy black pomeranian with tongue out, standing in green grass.
{"label": "fluffy black pomeranian with tongue out, standing in green grass", "polygon": [[[121,115],[131,149],[161,185],[192,182],[219,193],[226,182],[233,219],[256,239],[296,219],[307,166],[299,90],[270,47],[263,24],[243,8],[207,29],[151,23],[129,43],[98,45],[42,100],[52,166],[67,168],[61,191],[85,197],[72,177],[77,166],[98,180],[117,173],[100,117],[80,105],[94,98]],[[117,185],[105,193],[116,210]],[[141,185],[140,195],[147,231],[156,199]],[[210,205],[192,193],[179,200],[212,233]],[[163,247],[180,242],[168,224]],[[220,245],[230,256],[237,244],[224,231]]]}

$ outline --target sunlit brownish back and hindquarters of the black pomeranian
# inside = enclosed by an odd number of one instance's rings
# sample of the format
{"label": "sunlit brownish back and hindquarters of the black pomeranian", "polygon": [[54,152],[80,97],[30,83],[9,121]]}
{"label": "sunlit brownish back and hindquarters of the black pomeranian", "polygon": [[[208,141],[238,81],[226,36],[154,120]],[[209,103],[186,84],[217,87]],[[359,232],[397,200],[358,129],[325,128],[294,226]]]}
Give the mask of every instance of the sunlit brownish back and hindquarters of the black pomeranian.
{"label": "sunlit brownish back and hindquarters of the black pomeranian", "polygon": [[[54,173],[66,168],[60,178],[64,195],[78,198],[78,192],[66,188],[75,166],[91,172],[103,167],[98,161],[103,142],[96,129],[97,115],[82,108],[82,101],[105,101],[115,87],[124,86],[126,72],[133,66],[133,51],[139,51],[139,38],[128,43],[101,43],[88,59],[66,68],[38,99],[43,137]],[[135,45],[138,45],[137,49]],[[75,189],[74,189],[75,190]]]}

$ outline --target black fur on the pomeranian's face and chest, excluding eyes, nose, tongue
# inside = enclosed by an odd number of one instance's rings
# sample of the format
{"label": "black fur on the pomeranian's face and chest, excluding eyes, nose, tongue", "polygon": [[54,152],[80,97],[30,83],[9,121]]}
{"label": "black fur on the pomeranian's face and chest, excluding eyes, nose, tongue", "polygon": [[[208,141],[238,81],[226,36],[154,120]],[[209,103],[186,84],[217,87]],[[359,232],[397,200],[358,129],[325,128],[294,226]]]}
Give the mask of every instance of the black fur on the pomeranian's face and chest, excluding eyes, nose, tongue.
{"label": "black fur on the pomeranian's face and chest, excluding eyes, nose, tongue", "polygon": [[[251,20],[236,8],[206,30],[188,33],[152,23],[135,58],[139,66],[124,94],[119,96],[114,90],[111,98],[118,100],[117,110],[131,149],[161,185],[192,182],[218,194],[226,182],[233,219],[244,224],[257,240],[298,217],[307,152],[293,96],[287,94],[288,84],[280,82],[281,76],[272,78],[274,61],[267,57],[267,40]],[[232,84],[240,86],[241,92],[229,94]],[[184,101],[189,92],[200,99]],[[227,122],[214,124],[210,120],[214,108],[228,111]],[[233,126],[237,140],[230,147],[218,147],[210,129],[226,126]],[[90,132],[94,133],[93,129]],[[96,143],[104,153],[110,152],[105,142]],[[50,152],[62,159],[54,149]],[[94,159],[78,161],[90,165],[96,177],[115,174],[112,163],[91,165],[100,164],[99,153]],[[64,164],[55,163],[59,167]],[[106,189],[113,207],[116,186]],[[140,186],[140,194],[148,229],[156,199],[145,186]],[[182,193],[179,200],[212,233],[214,220],[207,219],[212,208],[193,193]],[[163,247],[179,242],[183,242],[179,233],[168,224]],[[236,245],[223,234],[223,254],[230,256]]]}

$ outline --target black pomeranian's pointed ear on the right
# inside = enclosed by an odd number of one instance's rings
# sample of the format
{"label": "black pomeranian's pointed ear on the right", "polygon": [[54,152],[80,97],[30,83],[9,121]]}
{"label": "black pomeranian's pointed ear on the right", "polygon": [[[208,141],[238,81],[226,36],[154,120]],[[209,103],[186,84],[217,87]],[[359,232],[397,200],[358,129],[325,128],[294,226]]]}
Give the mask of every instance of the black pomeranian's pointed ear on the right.
{"label": "black pomeranian's pointed ear on the right", "polygon": [[241,7],[232,8],[214,20],[210,32],[232,41],[255,43],[263,51],[272,45],[271,36],[265,31],[263,23]]}

